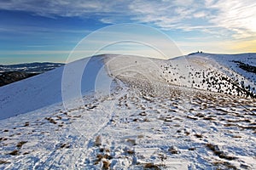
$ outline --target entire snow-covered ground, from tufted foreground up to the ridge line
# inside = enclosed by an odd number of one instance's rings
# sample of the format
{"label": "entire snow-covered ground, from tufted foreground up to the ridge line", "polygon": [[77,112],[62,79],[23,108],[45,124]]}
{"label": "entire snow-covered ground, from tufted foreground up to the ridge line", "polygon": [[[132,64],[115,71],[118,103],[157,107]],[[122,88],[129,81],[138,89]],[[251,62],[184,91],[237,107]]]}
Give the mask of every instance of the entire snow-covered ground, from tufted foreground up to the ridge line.
{"label": "entire snow-covered ground, from tufted foreground up to the ridge line", "polygon": [[[0,88],[0,168],[255,169],[255,59],[93,57],[68,110],[63,68]],[[95,96],[102,66],[113,83]]]}

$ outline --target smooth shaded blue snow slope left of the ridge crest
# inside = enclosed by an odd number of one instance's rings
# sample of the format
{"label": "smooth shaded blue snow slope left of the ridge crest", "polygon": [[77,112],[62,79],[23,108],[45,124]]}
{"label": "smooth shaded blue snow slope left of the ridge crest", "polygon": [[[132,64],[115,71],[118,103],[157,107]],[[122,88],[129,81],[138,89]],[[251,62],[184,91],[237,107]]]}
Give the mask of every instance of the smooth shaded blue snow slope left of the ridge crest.
{"label": "smooth shaded blue snow slope left of the ridge crest", "polygon": [[[81,82],[81,92],[88,94],[95,90],[96,76],[103,67],[103,58],[80,59],[68,64],[66,67],[67,77],[70,80],[65,82],[65,86],[73,84],[72,77],[75,77],[77,69],[87,64]],[[62,101],[61,92],[62,74],[65,66],[61,66],[53,71],[45,72],[36,77],[31,77],[20,82],[15,82],[0,88],[0,119],[16,116],[28,111],[35,111],[42,107],[53,105]],[[102,77],[110,79],[108,74],[102,74]],[[73,96],[75,98],[76,96]]]}

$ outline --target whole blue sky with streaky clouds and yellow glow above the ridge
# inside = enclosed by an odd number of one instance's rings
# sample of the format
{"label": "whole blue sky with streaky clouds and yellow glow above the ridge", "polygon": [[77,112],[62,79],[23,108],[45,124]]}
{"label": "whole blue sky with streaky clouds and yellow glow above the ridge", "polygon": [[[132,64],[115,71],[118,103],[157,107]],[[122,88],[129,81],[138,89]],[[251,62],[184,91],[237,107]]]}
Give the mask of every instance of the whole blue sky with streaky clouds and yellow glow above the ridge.
{"label": "whole blue sky with streaky clouds and yellow glow above the ridge", "polygon": [[[115,26],[124,23],[160,31],[181,54],[256,53],[255,0],[0,0],[0,64],[67,62],[79,42],[93,33],[95,37],[86,39],[90,45],[84,51],[93,50],[97,42],[111,42],[111,38],[124,34],[124,40],[147,37],[149,44],[162,42],[148,29],[125,32]],[[110,30],[104,29],[109,26]],[[111,36],[96,34],[101,31]],[[134,42],[112,44],[96,54],[136,54],[138,50],[154,54],[152,48]]]}

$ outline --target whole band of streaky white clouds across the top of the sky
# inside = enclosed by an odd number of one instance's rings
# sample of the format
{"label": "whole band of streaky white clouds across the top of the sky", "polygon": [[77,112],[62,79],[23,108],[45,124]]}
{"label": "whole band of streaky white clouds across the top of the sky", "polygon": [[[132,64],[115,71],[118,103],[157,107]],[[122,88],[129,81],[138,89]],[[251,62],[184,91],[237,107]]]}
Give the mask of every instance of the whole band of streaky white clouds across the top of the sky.
{"label": "whole band of streaky white clouds across the top of the sky", "polygon": [[107,24],[135,21],[163,30],[214,32],[218,27],[232,31],[234,38],[250,37],[256,32],[255,0],[10,0],[1,1],[0,9],[29,11],[47,17],[96,16]]}

